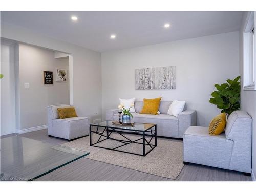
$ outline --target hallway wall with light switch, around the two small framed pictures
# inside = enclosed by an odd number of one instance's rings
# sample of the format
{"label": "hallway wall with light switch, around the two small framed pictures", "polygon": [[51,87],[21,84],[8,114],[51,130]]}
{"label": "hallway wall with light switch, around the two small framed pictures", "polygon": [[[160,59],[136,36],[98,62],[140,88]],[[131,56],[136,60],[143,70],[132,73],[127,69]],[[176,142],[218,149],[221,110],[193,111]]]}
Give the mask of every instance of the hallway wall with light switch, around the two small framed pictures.
{"label": "hallway wall with light switch, around the two small framed pictures", "polygon": [[[47,124],[47,106],[69,104],[67,82],[55,81],[56,69],[69,73],[69,58],[55,58],[55,52],[19,44],[20,128],[28,129]],[[53,72],[53,84],[44,84],[44,71]],[[24,88],[29,83],[29,88]]]}

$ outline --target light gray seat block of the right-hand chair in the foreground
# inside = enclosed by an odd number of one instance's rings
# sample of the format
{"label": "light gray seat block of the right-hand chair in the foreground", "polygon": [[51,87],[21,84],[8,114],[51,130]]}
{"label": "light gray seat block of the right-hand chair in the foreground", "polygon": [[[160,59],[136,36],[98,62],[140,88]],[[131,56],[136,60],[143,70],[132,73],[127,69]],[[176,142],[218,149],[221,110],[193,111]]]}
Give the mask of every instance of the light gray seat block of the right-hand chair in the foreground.
{"label": "light gray seat block of the right-hand chair in the foreground", "polygon": [[209,135],[208,127],[190,126],[184,133],[183,158],[185,162],[228,168],[233,144],[225,133]]}

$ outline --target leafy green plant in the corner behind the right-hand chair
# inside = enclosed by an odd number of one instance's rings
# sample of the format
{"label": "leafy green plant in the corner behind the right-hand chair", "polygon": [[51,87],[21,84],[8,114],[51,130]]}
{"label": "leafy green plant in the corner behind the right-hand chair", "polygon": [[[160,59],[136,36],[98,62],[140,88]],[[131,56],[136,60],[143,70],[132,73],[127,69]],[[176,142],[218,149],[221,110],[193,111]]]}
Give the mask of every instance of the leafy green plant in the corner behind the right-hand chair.
{"label": "leafy green plant in the corner behind the right-hand chair", "polygon": [[227,117],[236,110],[240,110],[240,76],[234,80],[227,80],[227,83],[215,84],[217,91],[211,93],[210,103],[216,104],[221,113]]}

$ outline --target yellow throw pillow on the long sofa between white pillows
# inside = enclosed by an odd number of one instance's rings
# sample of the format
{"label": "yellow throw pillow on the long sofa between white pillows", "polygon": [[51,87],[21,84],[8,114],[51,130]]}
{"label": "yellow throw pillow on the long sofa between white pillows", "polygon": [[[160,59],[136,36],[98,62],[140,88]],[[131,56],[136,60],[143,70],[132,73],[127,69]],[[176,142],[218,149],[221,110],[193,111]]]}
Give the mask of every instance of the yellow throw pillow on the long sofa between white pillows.
{"label": "yellow throw pillow on the long sofa between white pillows", "polygon": [[141,110],[140,114],[152,114],[158,115],[158,109],[160,105],[162,97],[156,99],[143,99],[144,105],[143,109]]}

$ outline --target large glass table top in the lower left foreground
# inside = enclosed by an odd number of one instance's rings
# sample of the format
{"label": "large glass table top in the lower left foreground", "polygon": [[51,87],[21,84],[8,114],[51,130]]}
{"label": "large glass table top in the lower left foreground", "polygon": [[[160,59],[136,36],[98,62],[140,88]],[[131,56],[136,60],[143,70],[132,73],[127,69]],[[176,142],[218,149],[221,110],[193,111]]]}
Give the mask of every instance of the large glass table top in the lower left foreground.
{"label": "large glass table top in the lower left foreground", "polygon": [[0,181],[33,180],[89,154],[22,136],[11,136],[0,140]]}

